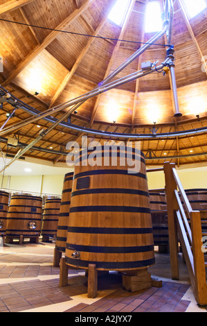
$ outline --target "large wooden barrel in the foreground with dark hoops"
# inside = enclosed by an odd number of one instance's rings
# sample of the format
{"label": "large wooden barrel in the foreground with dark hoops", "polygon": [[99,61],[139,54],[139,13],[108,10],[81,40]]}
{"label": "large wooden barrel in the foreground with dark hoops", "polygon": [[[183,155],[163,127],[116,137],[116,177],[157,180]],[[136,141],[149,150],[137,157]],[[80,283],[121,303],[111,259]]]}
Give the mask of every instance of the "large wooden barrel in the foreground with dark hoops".
{"label": "large wooden barrel in the foreground with dark hoops", "polygon": [[145,157],[134,151],[140,169],[129,173],[120,160],[125,146],[114,165],[114,150],[97,148],[95,166],[91,154],[81,152],[75,161],[65,262],[84,269],[96,264],[99,271],[146,269],[154,264],[154,243]]}

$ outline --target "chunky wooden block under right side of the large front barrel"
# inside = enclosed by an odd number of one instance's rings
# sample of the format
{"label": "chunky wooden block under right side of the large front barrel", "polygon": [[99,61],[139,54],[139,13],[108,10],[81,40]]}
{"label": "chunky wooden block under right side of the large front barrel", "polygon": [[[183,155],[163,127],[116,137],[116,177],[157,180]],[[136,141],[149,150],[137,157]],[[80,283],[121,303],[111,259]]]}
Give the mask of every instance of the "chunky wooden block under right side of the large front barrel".
{"label": "chunky wooden block under right side of the large front barrel", "polygon": [[123,274],[123,289],[135,292],[152,287],[151,274],[147,269],[137,271],[136,275]]}

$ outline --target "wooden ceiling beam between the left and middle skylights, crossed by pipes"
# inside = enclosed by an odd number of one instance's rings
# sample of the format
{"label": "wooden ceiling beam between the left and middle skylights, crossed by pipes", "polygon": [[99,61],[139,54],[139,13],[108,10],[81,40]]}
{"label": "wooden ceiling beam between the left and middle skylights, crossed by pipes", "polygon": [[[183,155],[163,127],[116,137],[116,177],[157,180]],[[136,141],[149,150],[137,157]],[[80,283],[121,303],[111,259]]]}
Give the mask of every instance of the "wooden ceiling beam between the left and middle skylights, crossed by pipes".
{"label": "wooden ceiling beam between the left and middle skylights, crossed by pipes", "polygon": [[[123,35],[124,35],[125,30],[126,30],[126,28],[127,28],[127,22],[129,21],[129,17],[130,17],[130,15],[131,15],[131,13],[132,13],[132,9],[134,8],[134,4],[135,4],[135,3],[136,3],[136,0],[132,0],[131,6],[130,6],[131,8],[130,8],[129,11],[128,11],[128,15],[125,17],[125,22],[123,23],[123,26],[122,26],[122,28],[121,28],[121,30],[120,30],[120,34],[119,34],[119,36],[118,36],[118,39],[119,39],[119,40],[121,40],[121,39],[123,38]],[[114,63],[114,60],[116,59],[116,55],[117,55],[117,53],[118,53],[118,50],[119,50],[120,44],[121,44],[121,41],[118,41],[118,42],[116,43],[116,46],[115,46],[115,48],[114,48],[114,51],[113,51],[113,53],[112,53],[112,55],[111,55],[111,60],[109,61],[109,65],[108,65],[108,67],[107,67],[107,71],[106,71],[106,73],[105,73],[105,78],[107,78],[107,76],[109,76],[109,72],[110,72],[111,67],[112,67],[112,65],[113,65],[113,63]],[[104,79],[105,79],[105,78],[104,78]],[[92,112],[92,114],[91,114],[90,127],[93,125],[93,121],[94,121],[95,116],[96,116],[96,112],[97,112],[97,109],[98,109],[98,104],[99,104],[99,101],[100,101],[100,96],[101,96],[101,94],[99,94],[99,95],[97,96],[97,98],[96,98],[96,103],[95,103],[95,105],[94,105],[94,107],[93,107],[93,112]]]}

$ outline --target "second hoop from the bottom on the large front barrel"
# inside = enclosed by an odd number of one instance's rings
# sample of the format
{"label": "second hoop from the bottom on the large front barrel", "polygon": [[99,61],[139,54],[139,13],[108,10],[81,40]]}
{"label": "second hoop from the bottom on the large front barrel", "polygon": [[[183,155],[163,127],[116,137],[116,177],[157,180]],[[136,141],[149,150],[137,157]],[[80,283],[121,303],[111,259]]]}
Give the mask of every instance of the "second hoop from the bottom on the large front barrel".
{"label": "second hoop from the bottom on the large front barrel", "polygon": [[126,254],[133,252],[148,252],[154,250],[154,246],[136,246],[136,247],[102,247],[102,246],[80,246],[71,243],[66,243],[66,249],[73,248],[80,252],[99,252],[111,254]]}

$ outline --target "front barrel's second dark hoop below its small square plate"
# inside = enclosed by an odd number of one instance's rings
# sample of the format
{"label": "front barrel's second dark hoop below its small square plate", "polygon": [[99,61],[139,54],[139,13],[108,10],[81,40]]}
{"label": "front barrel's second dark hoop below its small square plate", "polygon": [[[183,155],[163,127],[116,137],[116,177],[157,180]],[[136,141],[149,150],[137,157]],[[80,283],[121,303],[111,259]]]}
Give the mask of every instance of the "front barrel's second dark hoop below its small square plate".
{"label": "front barrel's second dark hoop below its small square plate", "polygon": [[129,213],[147,213],[150,214],[151,210],[148,207],[135,207],[135,206],[77,206],[70,208],[71,213],[78,212],[129,212]]}

